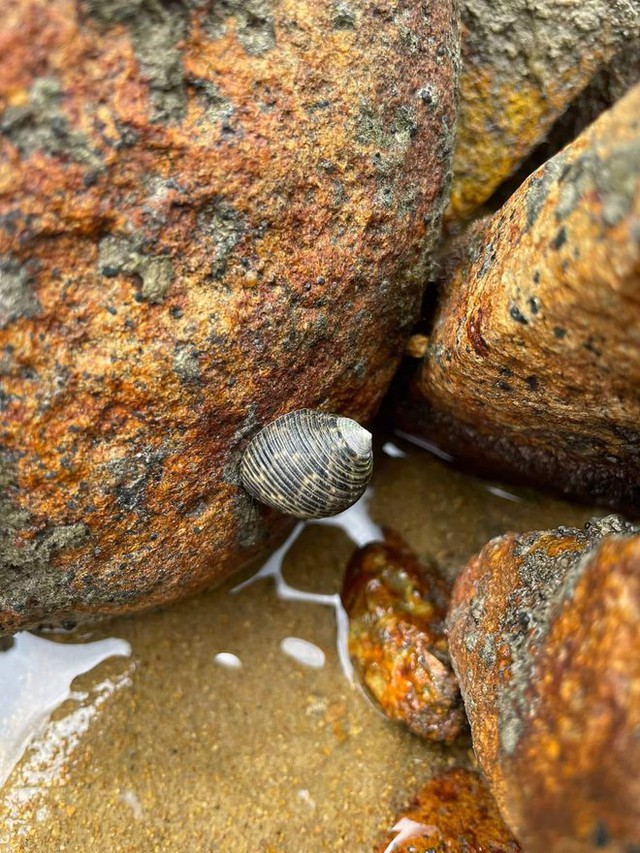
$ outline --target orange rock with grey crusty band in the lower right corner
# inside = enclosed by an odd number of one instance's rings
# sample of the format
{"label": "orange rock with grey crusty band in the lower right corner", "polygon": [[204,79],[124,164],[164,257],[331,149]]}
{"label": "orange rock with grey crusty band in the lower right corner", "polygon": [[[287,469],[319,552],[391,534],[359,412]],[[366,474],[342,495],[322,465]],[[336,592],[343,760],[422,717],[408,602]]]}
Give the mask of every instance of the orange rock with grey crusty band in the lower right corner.
{"label": "orange rock with grey crusty band in the lower right corner", "polygon": [[609,516],[494,539],[447,624],[478,761],[523,848],[637,850],[637,529]]}

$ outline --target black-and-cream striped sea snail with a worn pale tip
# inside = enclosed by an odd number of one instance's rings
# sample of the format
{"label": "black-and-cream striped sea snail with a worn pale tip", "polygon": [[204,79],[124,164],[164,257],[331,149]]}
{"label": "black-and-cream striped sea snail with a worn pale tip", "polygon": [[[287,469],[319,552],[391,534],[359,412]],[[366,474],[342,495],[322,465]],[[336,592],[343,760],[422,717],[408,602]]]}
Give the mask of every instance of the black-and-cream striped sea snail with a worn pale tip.
{"label": "black-and-cream striped sea snail with a worn pale tip", "polygon": [[372,468],[370,432],[350,418],[299,409],[253,438],[240,476],[262,503],[296,518],[325,518],[358,500]]}

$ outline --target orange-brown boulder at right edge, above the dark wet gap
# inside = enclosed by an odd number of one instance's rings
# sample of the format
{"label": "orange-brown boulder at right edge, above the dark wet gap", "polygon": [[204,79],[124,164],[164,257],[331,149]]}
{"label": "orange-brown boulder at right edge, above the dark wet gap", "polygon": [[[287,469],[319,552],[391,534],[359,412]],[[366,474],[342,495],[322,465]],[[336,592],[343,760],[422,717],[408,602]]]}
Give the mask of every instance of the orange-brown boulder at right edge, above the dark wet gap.
{"label": "orange-brown boulder at right edge, above the dark wet gap", "polygon": [[640,86],[459,249],[406,432],[493,477],[640,508]]}

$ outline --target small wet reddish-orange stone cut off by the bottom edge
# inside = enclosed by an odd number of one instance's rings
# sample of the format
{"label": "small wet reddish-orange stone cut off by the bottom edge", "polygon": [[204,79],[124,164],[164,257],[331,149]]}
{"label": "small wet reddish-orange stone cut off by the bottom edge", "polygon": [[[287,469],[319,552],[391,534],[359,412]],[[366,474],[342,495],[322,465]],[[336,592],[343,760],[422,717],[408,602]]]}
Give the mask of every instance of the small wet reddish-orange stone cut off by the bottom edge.
{"label": "small wet reddish-orange stone cut off by the bottom edge", "polygon": [[520,853],[482,778],[456,768],[435,776],[376,853]]}

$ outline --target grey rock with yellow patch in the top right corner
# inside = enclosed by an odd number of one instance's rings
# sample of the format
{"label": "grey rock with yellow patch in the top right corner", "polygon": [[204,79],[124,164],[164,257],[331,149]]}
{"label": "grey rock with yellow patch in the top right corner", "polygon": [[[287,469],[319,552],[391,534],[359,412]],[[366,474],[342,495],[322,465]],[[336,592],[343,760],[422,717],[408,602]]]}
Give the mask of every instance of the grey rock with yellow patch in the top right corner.
{"label": "grey rock with yellow patch in the top right corner", "polygon": [[[468,217],[543,141],[593,79],[631,83],[640,38],[627,0],[462,0],[460,112],[449,219]],[[636,54],[637,57],[637,54]]]}

